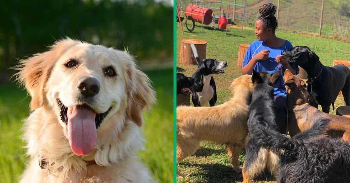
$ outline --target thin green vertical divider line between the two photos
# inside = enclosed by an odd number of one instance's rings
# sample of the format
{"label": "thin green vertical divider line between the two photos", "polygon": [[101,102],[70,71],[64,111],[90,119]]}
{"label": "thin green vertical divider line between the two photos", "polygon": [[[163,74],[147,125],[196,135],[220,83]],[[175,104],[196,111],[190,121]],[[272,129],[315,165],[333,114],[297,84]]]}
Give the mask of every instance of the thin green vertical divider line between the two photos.
{"label": "thin green vertical divider line between the two photos", "polygon": [[174,166],[174,183],[176,183],[176,0],[174,0],[174,11],[173,11],[173,28],[174,28],[174,35],[173,35],[173,49],[174,49],[174,66],[173,66],[173,116],[174,116],[174,160],[173,160],[173,166]]}

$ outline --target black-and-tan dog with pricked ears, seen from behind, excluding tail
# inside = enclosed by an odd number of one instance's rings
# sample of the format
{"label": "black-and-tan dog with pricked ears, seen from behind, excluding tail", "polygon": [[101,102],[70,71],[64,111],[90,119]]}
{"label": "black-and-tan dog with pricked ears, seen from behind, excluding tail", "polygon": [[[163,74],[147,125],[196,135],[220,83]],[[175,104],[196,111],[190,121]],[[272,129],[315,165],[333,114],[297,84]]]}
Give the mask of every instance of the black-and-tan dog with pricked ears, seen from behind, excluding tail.
{"label": "black-and-tan dog with pricked ears, seen from behind, excluding tail", "polygon": [[243,182],[248,183],[252,178],[263,173],[268,168],[272,174],[276,174],[279,166],[279,158],[264,146],[259,146],[259,136],[254,134],[255,123],[266,121],[276,131],[279,128],[275,121],[275,110],[273,100],[273,85],[281,78],[281,71],[270,75],[265,72],[257,73],[253,70],[252,82],[254,91],[252,102],[249,106],[249,119],[247,122],[250,139],[245,149],[245,160],[243,164]]}

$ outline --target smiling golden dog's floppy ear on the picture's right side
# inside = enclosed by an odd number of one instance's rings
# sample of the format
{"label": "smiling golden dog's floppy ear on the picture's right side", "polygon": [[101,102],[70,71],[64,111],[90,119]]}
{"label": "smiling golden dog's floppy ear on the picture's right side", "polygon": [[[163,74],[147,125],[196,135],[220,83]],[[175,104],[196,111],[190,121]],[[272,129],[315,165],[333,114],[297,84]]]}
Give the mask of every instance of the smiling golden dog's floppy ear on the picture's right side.
{"label": "smiling golden dog's floppy ear on the picture's right side", "polygon": [[133,57],[126,52],[124,54],[127,57],[124,73],[128,96],[126,115],[140,127],[143,121],[142,111],[154,104],[155,92],[151,86],[151,80],[138,69]]}

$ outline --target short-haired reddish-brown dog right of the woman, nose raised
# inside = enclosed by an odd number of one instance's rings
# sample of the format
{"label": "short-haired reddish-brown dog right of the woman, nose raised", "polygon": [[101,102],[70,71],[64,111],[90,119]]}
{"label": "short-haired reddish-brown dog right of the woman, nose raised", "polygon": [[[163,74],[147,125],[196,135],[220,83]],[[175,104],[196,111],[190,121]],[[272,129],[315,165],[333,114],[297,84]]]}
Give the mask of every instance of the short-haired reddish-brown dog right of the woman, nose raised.
{"label": "short-haired reddish-brown dog right of the woman, nose raised", "polygon": [[288,69],[284,74],[287,91],[288,131],[291,137],[309,129],[319,119],[329,119],[328,134],[342,137],[350,142],[350,118],[321,112],[311,106],[312,97],[306,90],[304,81],[293,75]]}

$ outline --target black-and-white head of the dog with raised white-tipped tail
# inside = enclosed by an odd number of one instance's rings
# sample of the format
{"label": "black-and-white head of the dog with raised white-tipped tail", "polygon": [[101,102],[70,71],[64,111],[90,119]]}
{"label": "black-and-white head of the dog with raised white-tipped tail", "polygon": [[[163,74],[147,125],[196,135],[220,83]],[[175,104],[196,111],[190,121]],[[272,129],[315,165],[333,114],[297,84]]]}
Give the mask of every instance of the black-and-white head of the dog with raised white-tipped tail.
{"label": "black-and-white head of the dog with raised white-tipped tail", "polygon": [[204,59],[197,68],[197,72],[202,73],[205,76],[211,74],[223,74],[225,73],[223,68],[227,67],[227,62],[218,62],[216,59]]}

